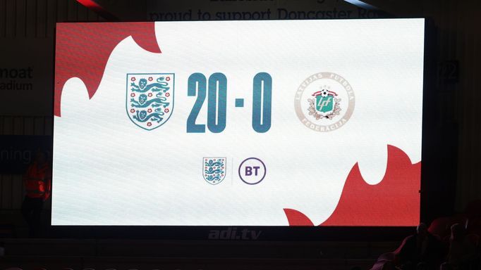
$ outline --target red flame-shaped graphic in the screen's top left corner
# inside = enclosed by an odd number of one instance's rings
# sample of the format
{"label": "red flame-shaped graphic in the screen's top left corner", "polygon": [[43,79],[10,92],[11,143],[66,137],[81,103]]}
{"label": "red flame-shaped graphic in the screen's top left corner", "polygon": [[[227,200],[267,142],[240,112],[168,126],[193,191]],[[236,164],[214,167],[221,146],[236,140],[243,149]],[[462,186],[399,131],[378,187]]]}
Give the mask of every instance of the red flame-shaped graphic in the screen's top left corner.
{"label": "red flame-shaped graphic in the screen's top left corner", "polygon": [[105,65],[115,46],[132,36],[152,53],[161,53],[155,38],[154,23],[58,23],[55,51],[54,115],[61,116],[63,84],[80,78],[92,98],[104,75]]}

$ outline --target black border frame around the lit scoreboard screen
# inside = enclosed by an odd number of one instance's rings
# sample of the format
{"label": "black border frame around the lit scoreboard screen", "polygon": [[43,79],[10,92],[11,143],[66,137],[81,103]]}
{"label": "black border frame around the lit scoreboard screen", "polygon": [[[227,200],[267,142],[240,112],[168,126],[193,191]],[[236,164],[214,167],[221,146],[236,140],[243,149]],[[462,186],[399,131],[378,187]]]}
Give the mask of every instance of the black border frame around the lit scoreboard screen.
{"label": "black border frame around the lit scoreboard screen", "polygon": [[[436,119],[435,116],[435,79],[436,79],[436,27],[434,21],[427,17],[412,18],[349,18],[349,19],[317,19],[317,20],[384,20],[384,19],[424,19],[424,66],[423,66],[423,89],[422,89],[422,150],[421,150],[421,180],[420,180],[420,222],[430,224],[432,217],[426,209],[428,205],[426,193],[431,189],[430,182],[425,179],[434,178],[430,175],[429,169],[426,169],[426,163],[430,163],[434,159],[434,147],[427,149],[427,134],[434,132],[432,124]],[[222,20],[216,20],[222,21]],[[175,22],[175,21],[170,21]],[[183,22],[183,21],[178,21]],[[117,23],[117,22],[71,22],[71,23]],[[122,21],[118,23],[136,23],[134,21]],[[52,81],[55,85],[55,57],[56,57],[56,29],[54,31],[54,53],[53,53],[53,74]],[[52,87],[54,88],[54,87]],[[55,91],[52,89],[52,107],[54,107]],[[53,147],[54,147],[54,108],[52,108],[52,135],[51,135],[51,167],[53,167]],[[428,161],[427,161],[428,160]],[[52,191],[54,188],[54,179],[51,183]],[[53,193],[52,193],[53,195]],[[257,231],[260,233],[257,239],[220,239],[219,240],[287,240],[287,241],[319,241],[319,240],[400,240],[403,237],[415,232],[414,226],[64,226],[51,225],[51,212],[49,208],[49,228],[48,235],[51,238],[96,238],[96,239],[157,239],[157,240],[216,240],[209,238],[212,231],[236,230]]]}

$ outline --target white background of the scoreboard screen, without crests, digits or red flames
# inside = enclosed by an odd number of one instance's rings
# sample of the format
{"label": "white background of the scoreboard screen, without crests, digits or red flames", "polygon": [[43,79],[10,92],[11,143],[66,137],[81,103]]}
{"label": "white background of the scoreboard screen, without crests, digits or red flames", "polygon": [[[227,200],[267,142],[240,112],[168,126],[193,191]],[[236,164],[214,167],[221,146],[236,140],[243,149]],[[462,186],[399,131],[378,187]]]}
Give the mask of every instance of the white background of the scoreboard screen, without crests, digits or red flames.
{"label": "white background of the scoreboard screen, without crests, digits or red flames", "polygon": [[[334,211],[355,162],[369,184],[381,181],[386,145],[421,158],[424,19],[156,23],[162,53],[121,41],[89,100],[71,78],[54,120],[53,225],[287,226],[284,208],[321,224]],[[146,131],[126,113],[126,74],[173,72],[173,113]],[[188,134],[194,72],[227,77],[226,129]],[[252,78],[272,76],[272,126],[252,129]],[[317,72],[353,86],[345,126],[316,132],[298,120],[294,94]],[[234,106],[244,98],[244,107]],[[207,123],[207,99],[197,123]],[[324,143],[329,142],[329,143]],[[202,157],[226,157],[226,179],[202,179]],[[266,178],[240,181],[245,158]]]}

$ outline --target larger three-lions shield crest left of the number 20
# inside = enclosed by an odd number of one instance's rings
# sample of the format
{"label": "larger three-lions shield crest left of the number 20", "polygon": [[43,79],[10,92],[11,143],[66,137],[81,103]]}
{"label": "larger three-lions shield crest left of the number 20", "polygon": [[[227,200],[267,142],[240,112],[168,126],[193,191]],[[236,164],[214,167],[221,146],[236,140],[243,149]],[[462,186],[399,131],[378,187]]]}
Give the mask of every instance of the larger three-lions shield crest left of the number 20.
{"label": "larger three-lions shield crest left of the number 20", "polygon": [[173,73],[127,74],[127,115],[142,129],[162,126],[173,110]]}

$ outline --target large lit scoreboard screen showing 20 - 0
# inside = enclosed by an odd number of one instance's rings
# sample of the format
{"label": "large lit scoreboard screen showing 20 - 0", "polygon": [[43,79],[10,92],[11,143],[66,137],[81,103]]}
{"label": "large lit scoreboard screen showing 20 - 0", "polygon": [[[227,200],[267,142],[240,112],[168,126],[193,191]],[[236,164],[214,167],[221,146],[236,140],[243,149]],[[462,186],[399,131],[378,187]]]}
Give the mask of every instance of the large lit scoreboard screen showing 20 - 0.
{"label": "large lit scoreboard screen showing 20 - 0", "polygon": [[414,226],[425,20],[59,23],[52,225]]}

